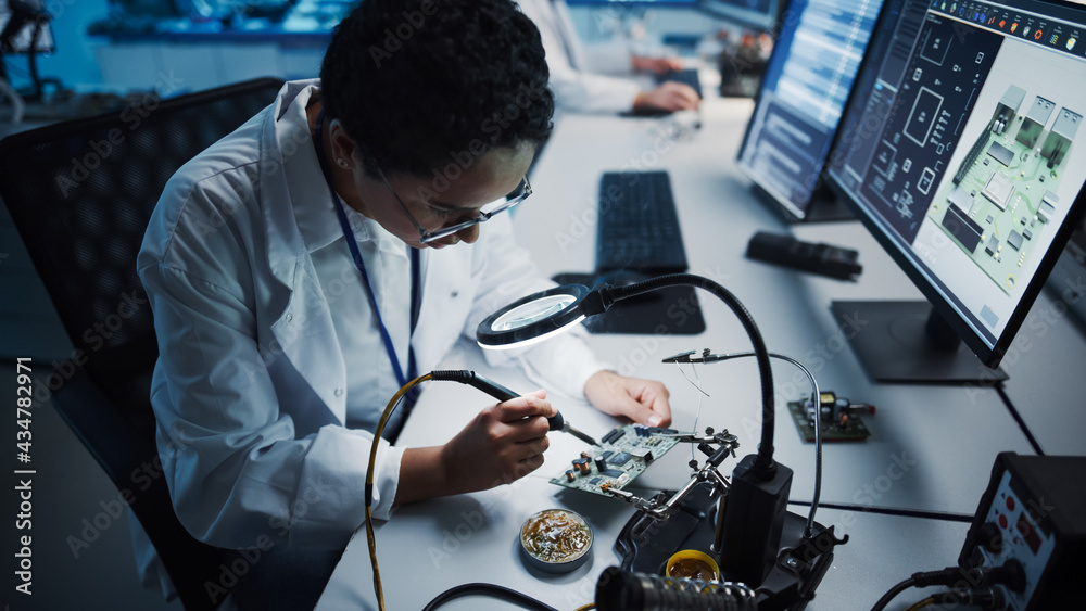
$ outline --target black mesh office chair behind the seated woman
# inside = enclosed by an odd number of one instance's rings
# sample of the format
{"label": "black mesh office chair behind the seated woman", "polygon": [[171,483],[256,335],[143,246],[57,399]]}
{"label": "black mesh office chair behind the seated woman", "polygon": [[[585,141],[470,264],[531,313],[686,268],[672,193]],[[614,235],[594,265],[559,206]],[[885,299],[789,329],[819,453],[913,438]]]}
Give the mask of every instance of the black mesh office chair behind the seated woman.
{"label": "black mesh office chair behind the seated woman", "polygon": [[[136,254],[166,180],[275,100],[282,81],[251,80],[0,141],[0,198],[72,344],[58,411],[147,531],[186,609],[214,609],[219,553],[174,514],[155,458],[151,372],[157,357]],[[143,489],[146,488],[146,489]],[[217,601],[220,602],[220,601]]]}

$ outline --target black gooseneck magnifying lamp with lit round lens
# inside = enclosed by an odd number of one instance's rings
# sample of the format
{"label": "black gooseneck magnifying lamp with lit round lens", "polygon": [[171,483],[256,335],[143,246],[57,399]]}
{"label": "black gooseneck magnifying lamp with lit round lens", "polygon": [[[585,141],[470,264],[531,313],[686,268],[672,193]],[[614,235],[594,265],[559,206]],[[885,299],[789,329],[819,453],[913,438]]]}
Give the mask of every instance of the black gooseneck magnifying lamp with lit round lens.
{"label": "black gooseneck magnifying lamp with lit round lens", "polygon": [[724,515],[724,569],[747,583],[760,584],[771,569],[781,540],[792,470],[773,460],[773,378],[769,353],[754,318],[730,291],[692,273],[672,273],[629,284],[590,290],[581,284],[547,289],[516,301],[479,323],[476,339],[487,349],[507,349],[545,341],[603,314],[615,303],[667,287],[695,287],[712,293],[740,319],[750,339],[761,378],[761,441],[758,454],[740,461],[733,472]]}

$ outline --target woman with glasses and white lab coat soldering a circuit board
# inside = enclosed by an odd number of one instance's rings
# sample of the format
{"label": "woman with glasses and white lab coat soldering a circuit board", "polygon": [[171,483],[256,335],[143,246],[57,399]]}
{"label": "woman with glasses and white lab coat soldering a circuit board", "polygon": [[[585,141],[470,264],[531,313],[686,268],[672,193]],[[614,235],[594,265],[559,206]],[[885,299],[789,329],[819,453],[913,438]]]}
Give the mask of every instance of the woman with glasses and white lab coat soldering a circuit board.
{"label": "woman with glasses and white lab coat soldering a circuit board", "polygon": [[[403,382],[546,285],[507,213],[477,221],[530,190],[546,81],[539,34],[509,0],[366,0],[320,80],[288,82],[167,184],[138,258],[162,468],[192,535],[262,550],[245,578],[264,601],[319,594],[363,522],[370,431]],[[523,359],[608,413],[670,420],[661,384],[603,370],[574,336]],[[450,422],[462,430],[443,446],[381,440],[375,515],[539,468],[553,413],[538,392]],[[330,561],[312,560],[320,549]],[[209,596],[237,580],[222,581]],[[262,604],[252,589],[239,602]]]}

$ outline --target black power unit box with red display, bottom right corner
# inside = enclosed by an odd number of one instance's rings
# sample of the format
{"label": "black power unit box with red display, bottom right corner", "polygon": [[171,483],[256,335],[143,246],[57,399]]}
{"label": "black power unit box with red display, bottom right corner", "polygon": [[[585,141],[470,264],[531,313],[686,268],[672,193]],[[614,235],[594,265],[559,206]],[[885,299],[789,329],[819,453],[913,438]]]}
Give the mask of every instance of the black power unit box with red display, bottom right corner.
{"label": "black power unit box with red display, bottom right corner", "polygon": [[1021,568],[1020,583],[993,586],[1005,609],[1079,608],[1086,495],[1075,482],[1084,480],[1086,457],[998,454],[958,564]]}

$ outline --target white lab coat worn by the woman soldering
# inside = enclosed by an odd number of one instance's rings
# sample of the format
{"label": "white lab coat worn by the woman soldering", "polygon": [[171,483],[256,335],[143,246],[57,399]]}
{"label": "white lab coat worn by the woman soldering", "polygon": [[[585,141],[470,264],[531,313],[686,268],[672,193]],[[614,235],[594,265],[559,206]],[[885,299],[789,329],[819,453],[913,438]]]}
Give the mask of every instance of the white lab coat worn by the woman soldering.
{"label": "white lab coat worn by the woman soldering", "polygon": [[[345,392],[331,309],[299,227],[315,205],[338,226],[305,124],[318,86],[288,82],[268,109],[186,164],[166,186],[138,257],[161,352],[151,398],[163,470],[178,518],[219,547],[267,536],[341,548],[364,521],[372,435],[343,423],[352,410],[384,405],[353,405]],[[295,214],[301,206],[311,206],[307,217]],[[353,268],[345,243],[341,252]],[[485,224],[473,245],[421,254],[412,339],[419,372],[494,309],[553,284],[538,279],[508,215]],[[404,287],[405,308],[408,293]],[[603,368],[572,336],[523,357],[573,396]],[[372,358],[388,360],[383,351]],[[402,451],[380,442],[376,517],[390,513]],[[146,539],[140,545],[137,560],[150,569]]]}

